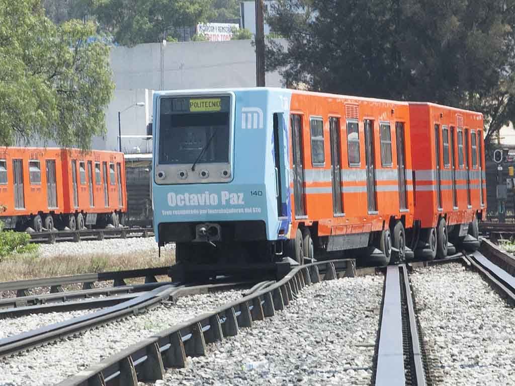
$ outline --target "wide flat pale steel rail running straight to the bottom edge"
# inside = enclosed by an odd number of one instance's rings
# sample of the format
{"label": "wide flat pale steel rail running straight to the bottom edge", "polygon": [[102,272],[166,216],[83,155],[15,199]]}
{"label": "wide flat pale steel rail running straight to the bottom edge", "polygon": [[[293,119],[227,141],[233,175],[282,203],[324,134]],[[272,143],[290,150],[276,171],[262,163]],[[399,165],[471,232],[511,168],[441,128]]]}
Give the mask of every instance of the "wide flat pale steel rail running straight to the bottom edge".
{"label": "wide flat pale steel rail running straight to the bottom edge", "polygon": [[[402,274],[399,272],[402,271]],[[404,286],[402,286],[401,276]],[[409,327],[403,329],[403,295],[406,303],[405,323]],[[405,336],[405,333],[409,337]],[[408,339],[407,347],[404,341]],[[406,352],[406,350],[408,352]],[[383,310],[377,349],[377,366],[375,386],[405,386],[405,358],[409,358],[410,375],[415,378],[417,386],[425,386],[425,374],[422,363],[417,322],[413,298],[409,288],[407,267],[404,264],[389,265],[386,268]],[[411,368],[412,367],[412,368]],[[413,374],[415,372],[415,374]],[[413,383],[413,382],[408,382]]]}

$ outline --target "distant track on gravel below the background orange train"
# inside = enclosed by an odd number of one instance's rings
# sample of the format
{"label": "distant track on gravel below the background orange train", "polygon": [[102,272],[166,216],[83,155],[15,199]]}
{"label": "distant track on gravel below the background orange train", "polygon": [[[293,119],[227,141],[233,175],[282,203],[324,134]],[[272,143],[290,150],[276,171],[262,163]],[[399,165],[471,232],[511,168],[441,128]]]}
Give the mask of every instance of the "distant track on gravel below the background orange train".
{"label": "distant track on gravel below the background orange train", "polygon": [[62,241],[80,242],[81,240],[126,239],[133,237],[153,237],[152,228],[118,227],[81,230],[55,230],[30,232],[30,242],[55,244]]}

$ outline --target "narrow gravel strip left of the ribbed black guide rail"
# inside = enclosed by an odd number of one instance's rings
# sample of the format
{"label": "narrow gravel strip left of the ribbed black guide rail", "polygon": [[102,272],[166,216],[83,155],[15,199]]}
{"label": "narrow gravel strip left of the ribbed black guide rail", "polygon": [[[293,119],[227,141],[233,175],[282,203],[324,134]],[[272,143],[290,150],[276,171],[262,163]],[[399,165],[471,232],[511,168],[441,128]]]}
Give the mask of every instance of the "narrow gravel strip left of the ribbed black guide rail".
{"label": "narrow gravel strip left of the ribbed black guide rail", "polygon": [[[68,337],[0,359],[0,385],[56,384],[156,332],[212,311],[241,296],[241,291],[226,291],[181,297],[175,305],[159,306],[142,315],[130,316],[77,337]],[[23,325],[20,328],[23,329]]]}

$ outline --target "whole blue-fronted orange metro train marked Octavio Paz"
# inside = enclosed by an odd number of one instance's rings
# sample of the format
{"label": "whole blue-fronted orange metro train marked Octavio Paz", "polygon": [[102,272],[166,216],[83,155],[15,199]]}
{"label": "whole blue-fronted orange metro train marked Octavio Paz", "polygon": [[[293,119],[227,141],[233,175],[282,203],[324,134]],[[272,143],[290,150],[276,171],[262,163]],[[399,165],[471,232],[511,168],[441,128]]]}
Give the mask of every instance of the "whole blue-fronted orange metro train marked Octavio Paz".
{"label": "whole blue-fronted orange metro train marked Octavio Paz", "polygon": [[277,88],[160,91],[153,106],[153,223],[178,262],[386,265],[479,245],[481,113]]}

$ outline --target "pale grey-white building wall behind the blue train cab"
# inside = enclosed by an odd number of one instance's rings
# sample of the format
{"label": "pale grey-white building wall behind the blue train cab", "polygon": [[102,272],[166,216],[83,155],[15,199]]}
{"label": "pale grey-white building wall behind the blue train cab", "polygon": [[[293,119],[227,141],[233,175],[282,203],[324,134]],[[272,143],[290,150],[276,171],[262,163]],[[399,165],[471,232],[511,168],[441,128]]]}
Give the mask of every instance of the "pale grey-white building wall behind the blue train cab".
{"label": "pale grey-white building wall behind the blue train cab", "polygon": [[[152,121],[153,90],[255,86],[255,51],[250,40],[179,42],[113,47],[110,56],[115,91],[106,111],[107,134],[95,138],[93,148],[118,149],[118,111],[122,137],[146,135]],[[279,73],[266,74],[266,85],[281,87]],[[122,139],[125,153],[151,151],[152,141]]]}

